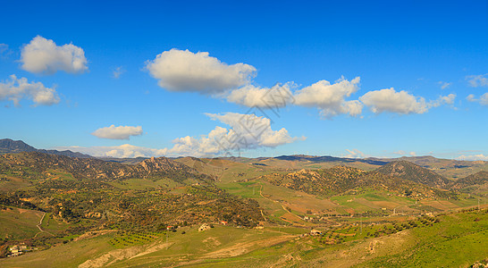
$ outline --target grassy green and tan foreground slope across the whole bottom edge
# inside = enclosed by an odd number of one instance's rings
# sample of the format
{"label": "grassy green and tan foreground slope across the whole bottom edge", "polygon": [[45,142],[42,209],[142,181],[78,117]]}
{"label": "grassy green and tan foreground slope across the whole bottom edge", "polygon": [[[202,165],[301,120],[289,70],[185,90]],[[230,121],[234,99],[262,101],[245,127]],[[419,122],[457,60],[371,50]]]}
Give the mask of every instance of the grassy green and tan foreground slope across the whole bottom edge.
{"label": "grassy green and tan foreground slope across the whole bottom edge", "polygon": [[[309,229],[215,225],[176,232],[100,233],[46,251],[0,260],[2,267],[467,267],[488,256],[487,210]],[[184,231],[184,233],[183,233]],[[122,244],[125,241],[132,241]],[[146,240],[147,239],[147,240]]]}

